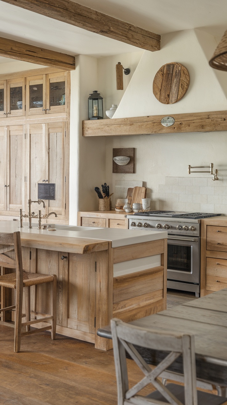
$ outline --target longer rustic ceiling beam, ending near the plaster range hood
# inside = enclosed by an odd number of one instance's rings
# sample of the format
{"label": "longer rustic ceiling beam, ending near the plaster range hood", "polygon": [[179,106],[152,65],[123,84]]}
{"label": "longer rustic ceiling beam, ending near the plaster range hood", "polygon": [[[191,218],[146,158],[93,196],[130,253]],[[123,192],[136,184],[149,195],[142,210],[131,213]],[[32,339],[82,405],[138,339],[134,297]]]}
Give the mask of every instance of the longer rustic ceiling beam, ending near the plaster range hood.
{"label": "longer rustic ceiling beam, ending near the plaster range hood", "polygon": [[70,0],[2,1],[148,51],[160,49],[160,35]]}

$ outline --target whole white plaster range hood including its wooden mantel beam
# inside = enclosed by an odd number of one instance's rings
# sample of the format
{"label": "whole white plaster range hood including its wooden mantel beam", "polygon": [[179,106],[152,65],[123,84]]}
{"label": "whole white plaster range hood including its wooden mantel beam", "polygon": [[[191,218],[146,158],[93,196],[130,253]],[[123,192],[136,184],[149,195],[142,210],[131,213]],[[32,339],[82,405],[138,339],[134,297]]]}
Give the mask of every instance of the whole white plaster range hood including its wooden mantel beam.
{"label": "whole white plaster range hood including its wooden mantel beam", "polygon": [[[214,37],[197,29],[163,35],[161,51],[144,51],[113,118],[83,121],[83,136],[226,131],[226,76],[208,62],[215,48]],[[180,101],[162,104],[153,94],[153,79],[173,61],[189,70],[189,89]],[[161,125],[166,116],[174,117],[172,126]]]}

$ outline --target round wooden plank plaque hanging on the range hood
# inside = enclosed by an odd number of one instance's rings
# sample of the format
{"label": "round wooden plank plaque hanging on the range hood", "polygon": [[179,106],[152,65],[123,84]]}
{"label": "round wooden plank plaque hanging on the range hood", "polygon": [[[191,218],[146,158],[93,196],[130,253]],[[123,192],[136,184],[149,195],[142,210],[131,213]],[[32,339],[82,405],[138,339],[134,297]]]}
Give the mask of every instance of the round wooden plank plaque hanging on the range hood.
{"label": "round wooden plank plaque hanging on the range hood", "polygon": [[153,81],[153,93],[163,104],[174,104],[187,92],[190,77],[185,66],[167,63],[158,70]]}

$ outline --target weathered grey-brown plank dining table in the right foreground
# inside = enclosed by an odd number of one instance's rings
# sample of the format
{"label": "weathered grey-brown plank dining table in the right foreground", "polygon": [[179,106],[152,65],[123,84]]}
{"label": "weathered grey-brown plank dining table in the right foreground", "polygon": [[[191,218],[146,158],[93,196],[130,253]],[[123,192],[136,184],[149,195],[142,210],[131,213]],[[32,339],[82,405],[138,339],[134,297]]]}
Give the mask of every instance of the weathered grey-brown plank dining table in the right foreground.
{"label": "weathered grey-brown plank dining table in the right foreground", "polygon": [[[227,387],[227,288],[129,323],[195,335],[197,378]],[[111,339],[110,326],[99,329],[98,335]],[[166,356],[166,352],[137,349],[154,365]],[[182,373],[182,358],[173,363],[171,370]]]}

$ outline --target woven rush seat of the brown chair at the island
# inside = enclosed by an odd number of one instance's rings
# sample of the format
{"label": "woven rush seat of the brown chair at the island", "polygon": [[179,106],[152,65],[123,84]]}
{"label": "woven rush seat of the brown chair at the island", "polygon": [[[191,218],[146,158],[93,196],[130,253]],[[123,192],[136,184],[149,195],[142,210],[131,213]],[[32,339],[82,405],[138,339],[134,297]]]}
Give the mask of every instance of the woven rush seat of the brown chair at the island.
{"label": "woven rush seat of the brown chair at the island", "polygon": [[[23,271],[23,287],[36,286],[37,284],[51,283],[53,275],[39,273],[26,273]],[[0,276],[0,286],[6,288],[16,288],[16,273],[9,273]]]}

